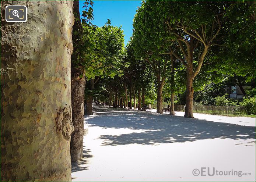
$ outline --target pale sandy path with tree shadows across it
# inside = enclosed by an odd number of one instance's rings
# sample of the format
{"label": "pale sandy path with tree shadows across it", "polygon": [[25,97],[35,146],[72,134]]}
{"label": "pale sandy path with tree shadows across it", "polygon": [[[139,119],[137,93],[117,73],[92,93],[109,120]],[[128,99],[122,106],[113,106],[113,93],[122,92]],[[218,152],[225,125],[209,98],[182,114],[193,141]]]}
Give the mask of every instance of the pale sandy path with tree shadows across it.
{"label": "pale sandy path with tree shadows across it", "polygon": [[72,181],[255,181],[255,118],[93,110]]}

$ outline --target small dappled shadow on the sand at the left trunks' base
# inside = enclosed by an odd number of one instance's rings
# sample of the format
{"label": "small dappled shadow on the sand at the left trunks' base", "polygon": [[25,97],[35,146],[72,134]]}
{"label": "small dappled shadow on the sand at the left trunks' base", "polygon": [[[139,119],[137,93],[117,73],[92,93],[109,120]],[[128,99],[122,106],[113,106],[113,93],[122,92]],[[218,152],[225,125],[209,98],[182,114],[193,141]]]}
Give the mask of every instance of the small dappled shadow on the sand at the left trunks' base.
{"label": "small dappled shadow on the sand at the left trunks' base", "polygon": [[87,159],[94,157],[91,154],[91,150],[90,149],[86,149],[85,150],[85,146],[84,146],[84,150],[83,150],[83,158],[81,161],[75,162],[75,163],[71,163],[71,172],[77,172],[77,171],[82,171],[82,170],[87,170],[88,167],[85,166],[87,164]]}

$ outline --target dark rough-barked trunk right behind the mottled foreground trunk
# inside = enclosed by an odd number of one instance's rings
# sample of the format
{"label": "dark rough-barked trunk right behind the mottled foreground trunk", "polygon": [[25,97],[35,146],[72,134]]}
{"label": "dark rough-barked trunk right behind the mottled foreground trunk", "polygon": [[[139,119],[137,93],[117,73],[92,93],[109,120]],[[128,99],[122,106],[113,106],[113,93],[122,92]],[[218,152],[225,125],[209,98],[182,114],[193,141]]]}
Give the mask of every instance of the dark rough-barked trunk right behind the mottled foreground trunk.
{"label": "dark rough-barked trunk right behind the mottled foreground trunk", "polygon": [[[73,42],[74,51],[71,56],[71,101],[72,101],[72,122],[74,125],[74,132],[71,134],[70,154],[71,161],[75,162],[81,160],[83,157],[83,138],[84,138],[84,88],[85,76],[83,67],[78,67],[77,50],[79,42],[77,39],[80,33],[75,35],[75,31],[81,27],[79,1],[74,1],[74,17],[78,20],[75,21],[73,26]],[[80,77],[82,75],[82,77]]]}

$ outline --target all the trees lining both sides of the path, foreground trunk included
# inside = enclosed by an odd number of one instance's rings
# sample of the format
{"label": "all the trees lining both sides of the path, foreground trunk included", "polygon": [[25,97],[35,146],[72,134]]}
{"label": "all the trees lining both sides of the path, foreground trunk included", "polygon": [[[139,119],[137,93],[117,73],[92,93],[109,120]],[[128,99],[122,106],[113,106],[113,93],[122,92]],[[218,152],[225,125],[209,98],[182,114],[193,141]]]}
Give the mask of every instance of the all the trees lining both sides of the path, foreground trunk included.
{"label": "all the trees lining both sides of the path, foreground trunk included", "polygon": [[24,24],[1,17],[3,181],[70,181],[85,102],[92,114],[93,99],[140,109],[157,97],[161,113],[170,97],[174,114],[186,90],[193,117],[194,90],[209,81],[255,80],[255,2],[143,1],[126,48],[120,27],[92,24],[90,0],[81,15],[79,1],[1,1],[1,15],[7,5],[29,11]]}

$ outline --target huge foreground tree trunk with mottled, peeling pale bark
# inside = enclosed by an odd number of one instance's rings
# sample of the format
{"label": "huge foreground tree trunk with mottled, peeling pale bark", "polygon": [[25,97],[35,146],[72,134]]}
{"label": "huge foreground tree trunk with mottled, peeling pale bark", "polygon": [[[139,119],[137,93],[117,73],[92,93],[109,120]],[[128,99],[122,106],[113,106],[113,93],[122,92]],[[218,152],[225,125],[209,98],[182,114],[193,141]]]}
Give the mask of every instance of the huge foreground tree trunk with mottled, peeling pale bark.
{"label": "huge foreground tree trunk with mottled, peeling pale bark", "polygon": [[71,181],[73,24],[73,1],[1,1],[1,181]]}

